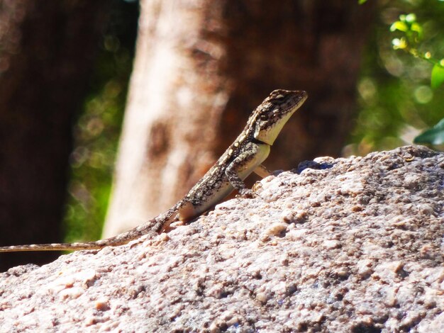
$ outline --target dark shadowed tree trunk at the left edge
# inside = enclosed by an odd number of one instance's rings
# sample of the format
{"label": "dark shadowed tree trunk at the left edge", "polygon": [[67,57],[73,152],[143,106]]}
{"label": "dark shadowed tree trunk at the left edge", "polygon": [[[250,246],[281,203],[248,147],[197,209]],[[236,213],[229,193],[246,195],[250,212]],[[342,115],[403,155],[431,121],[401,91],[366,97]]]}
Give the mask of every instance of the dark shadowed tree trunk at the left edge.
{"label": "dark shadowed tree trunk at the left edge", "polygon": [[[107,1],[0,0],[0,244],[56,242]],[[4,254],[0,270],[57,253]]]}

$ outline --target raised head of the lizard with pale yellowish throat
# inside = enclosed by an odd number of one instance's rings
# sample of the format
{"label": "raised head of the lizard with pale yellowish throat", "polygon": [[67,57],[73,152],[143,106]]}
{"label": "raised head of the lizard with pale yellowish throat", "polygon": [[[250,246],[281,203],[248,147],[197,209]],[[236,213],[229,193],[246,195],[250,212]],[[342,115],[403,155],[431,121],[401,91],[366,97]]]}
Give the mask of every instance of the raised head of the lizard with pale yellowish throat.
{"label": "raised head of the lizard with pale yellowish throat", "polygon": [[307,97],[308,94],[305,91],[283,89],[272,91],[250,118],[250,121],[255,123],[255,139],[267,145],[273,145],[285,123]]}

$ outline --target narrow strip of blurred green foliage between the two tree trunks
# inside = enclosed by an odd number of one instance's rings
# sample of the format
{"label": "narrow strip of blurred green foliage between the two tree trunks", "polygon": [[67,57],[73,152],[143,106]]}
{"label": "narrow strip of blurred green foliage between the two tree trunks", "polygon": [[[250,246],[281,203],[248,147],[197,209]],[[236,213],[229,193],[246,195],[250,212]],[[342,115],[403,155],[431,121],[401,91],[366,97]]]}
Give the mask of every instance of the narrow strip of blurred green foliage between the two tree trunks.
{"label": "narrow strip of blurred green foliage between the two tree trunks", "polygon": [[65,240],[99,239],[108,207],[114,160],[131,74],[138,4],[113,0],[91,80],[74,128]]}

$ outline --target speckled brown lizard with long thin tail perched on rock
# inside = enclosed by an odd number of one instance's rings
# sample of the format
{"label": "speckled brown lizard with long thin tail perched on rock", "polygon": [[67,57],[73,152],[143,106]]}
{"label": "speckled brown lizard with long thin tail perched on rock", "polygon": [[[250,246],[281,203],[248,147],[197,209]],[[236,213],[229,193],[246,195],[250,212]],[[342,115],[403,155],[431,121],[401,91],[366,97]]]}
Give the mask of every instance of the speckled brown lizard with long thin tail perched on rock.
{"label": "speckled brown lizard with long thin tail perched on rock", "polygon": [[306,91],[272,91],[252,112],[240,135],[187,195],[165,213],[145,224],[94,242],[15,245],[0,247],[0,252],[75,251],[115,247],[143,235],[160,234],[173,220],[189,222],[222,201],[234,189],[238,190],[240,196],[254,196],[253,191],[245,186],[244,179],[252,172],[262,178],[270,175],[262,162],[267,159],[270,148],[285,123],[307,97]]}

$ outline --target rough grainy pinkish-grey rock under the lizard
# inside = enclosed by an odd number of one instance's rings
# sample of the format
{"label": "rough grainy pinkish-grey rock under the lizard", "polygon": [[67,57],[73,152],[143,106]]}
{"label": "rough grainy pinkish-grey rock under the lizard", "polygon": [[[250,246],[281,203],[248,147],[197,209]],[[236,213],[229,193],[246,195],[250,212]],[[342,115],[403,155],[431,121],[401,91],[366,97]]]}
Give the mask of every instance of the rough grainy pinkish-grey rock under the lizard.
{"label": "rough grainy pinkish-grey rock under the lizard", "polygon": [[444,332],[444,154],[319,158],[128,246],[0,276],[0,331]]}

